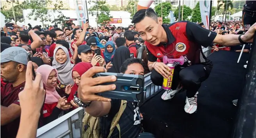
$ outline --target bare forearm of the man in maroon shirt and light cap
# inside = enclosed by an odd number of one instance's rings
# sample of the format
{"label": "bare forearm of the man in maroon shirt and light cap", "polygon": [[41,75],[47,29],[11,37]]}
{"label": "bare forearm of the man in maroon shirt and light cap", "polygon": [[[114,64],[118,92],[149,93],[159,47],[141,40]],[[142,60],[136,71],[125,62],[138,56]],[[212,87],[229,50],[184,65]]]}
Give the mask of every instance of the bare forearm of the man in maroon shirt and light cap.
{"label": "bare forearm of the man in maroon shirt and light cap", "polygon": [[20,105],[12,103],[9,107],[4,107],[1,105],[1,126],[14,121],[16,118],[20,117],[21,108]]}

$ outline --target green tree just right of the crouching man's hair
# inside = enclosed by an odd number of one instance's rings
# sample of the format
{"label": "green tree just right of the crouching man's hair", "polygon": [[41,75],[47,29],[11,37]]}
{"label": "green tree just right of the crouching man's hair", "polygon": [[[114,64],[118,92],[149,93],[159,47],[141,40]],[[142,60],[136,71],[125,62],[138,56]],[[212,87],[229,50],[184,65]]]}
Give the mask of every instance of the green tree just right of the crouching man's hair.
{"label": "green tree just right of the crouching man's hair", "polygon": [[[161,7],[162,5],[162,7]],[[158,3],[158,5],[155,6],[155,12],[158,15],[158,17],[161,17],[161,8],[163,12],[163,23],[170,23],[170,10],[172,10],[172,5],[169,2],[163,2],[163,3]]]}

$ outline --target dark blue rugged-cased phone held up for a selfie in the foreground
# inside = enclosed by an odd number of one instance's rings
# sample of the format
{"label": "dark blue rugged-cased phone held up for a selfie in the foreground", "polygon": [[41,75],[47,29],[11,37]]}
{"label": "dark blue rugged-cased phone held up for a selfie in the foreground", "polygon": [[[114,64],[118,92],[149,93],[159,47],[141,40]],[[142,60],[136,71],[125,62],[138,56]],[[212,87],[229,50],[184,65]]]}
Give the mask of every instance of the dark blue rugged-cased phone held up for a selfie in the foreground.
{"label": "dark blue rugged-cased phone held up for a selfie in the foreground", "polygon": [[122,74],[122,73],[96,73],[93,77],[114,75],[117,80],[115,82],[107,82],[100,85],[115,84],[116,89],[113,91],[105,91],[98,93],[99,96],[120,99],[134,102],[144,101],[144,77],[141,75]]}

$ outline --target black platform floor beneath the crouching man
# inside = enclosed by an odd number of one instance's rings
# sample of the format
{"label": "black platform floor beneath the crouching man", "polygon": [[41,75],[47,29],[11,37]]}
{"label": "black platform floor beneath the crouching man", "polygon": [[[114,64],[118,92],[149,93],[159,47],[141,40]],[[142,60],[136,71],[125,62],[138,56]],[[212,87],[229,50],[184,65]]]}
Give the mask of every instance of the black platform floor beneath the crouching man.
{"label": "black platform floor beneath the crouching man", "polygon": [[197,112],[184,111],[185,92],[176,94],[171,101],[161,99],[164,91],[158,91],[142,104],[145,132],[156,138],[229,138],[236,107],[232,100],[240,96],[245,82],[244,65],[249,58],[244,53],[218,51],[208,59],[213,61],[210,77],[202,83],[198,94]]}

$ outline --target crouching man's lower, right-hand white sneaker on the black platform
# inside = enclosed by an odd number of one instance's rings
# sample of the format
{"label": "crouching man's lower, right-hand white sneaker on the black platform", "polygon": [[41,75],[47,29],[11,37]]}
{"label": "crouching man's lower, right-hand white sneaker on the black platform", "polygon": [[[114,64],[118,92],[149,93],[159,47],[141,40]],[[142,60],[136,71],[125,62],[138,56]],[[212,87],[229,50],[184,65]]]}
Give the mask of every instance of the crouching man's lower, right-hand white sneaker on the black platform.
{"label": "crouching man's lower, right-hand white sneaker on the black platform", "polygon": [[194,97],[186,98],[186,105],[184,107],[184,110],[188,114],[193,114],[197,110],[197,94],[198,92],[196,92],[196,95]]}

